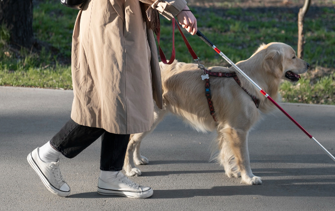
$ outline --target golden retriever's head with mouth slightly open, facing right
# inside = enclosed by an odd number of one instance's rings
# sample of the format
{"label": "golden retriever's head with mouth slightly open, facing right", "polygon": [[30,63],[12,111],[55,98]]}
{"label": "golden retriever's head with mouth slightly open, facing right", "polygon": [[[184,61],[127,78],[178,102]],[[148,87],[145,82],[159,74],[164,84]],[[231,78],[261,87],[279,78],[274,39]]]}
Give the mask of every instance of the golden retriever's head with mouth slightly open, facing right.
{"label": "golden retriever's head with mouth slightly open, facing right", "polygon": [[284,43],[262,45],[257,50],[260,51],[264,51],[263,67],[277,78],[296,82],[309,68],[309,64],[298,59],[292,47]]}

